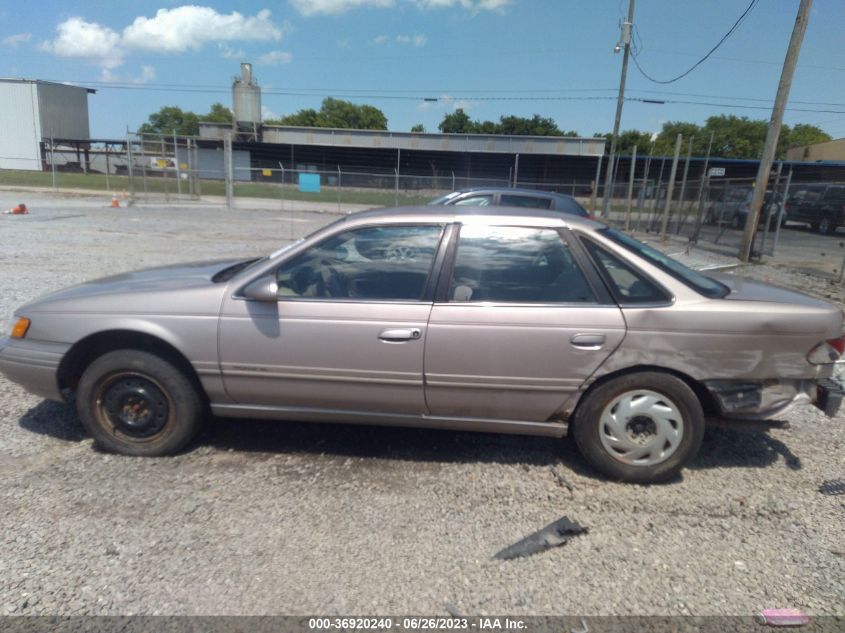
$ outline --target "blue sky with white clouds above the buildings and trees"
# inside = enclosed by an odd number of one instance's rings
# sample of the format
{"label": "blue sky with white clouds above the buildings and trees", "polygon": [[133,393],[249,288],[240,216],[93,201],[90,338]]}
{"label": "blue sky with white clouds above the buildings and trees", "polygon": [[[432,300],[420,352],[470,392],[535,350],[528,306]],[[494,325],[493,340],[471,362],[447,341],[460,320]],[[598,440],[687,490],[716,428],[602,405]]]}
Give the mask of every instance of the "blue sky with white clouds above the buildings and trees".
{"label": "blue sky with white clouds above the buildings and trees", "polygon": [[[163,105],[230,105],[240,61],[254,65],[266,116],[335,96],[379,107],[399,131],[437,131],[456,107],[491,120],[537,113],[585,136],[613,126],[625,0],[195,1],[40,0],[23,10],[0,0],[0,76],[97,89],[89,104],[98,138],[125,135]],[[747,6],[638,0],[640,64],[658,79],[680,74]],[[713,114],[768,119],[797,7],[760,0],[713,57],[673,84],[652,83],[632,64],[627,95],[666,103],[626,102],[622,129]],[[787,124],[845,137],[842,33],[842,0],[815,0]]]}

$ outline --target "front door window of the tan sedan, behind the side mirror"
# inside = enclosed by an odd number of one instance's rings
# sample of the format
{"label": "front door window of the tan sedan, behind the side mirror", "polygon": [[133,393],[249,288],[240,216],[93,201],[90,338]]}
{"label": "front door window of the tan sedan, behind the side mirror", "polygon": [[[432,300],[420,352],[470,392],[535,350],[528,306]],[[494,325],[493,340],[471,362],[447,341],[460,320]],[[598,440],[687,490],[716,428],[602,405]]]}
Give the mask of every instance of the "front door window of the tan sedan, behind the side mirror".
{"label": "front door window of the tan sedan, behind the side mirror", "polygon": [[279,298],[419,301],[441,232],[379,226],[334,235],[277,269]]}

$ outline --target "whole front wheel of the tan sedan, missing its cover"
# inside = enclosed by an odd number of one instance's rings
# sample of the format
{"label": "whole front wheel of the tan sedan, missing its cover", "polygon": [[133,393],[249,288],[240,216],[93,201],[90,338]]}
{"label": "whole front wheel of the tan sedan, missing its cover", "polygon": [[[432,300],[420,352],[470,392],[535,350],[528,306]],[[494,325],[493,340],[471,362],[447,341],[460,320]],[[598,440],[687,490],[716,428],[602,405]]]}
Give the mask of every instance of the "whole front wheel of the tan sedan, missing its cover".
{"label": "whole front wheel of the tan sedan, missing its cover", "polygon": [[181,370],[160,356],[131,349],[108,352],[88,366],[76,408],[99,447],[146,457],[184,448],[198,433],[205,411]]}

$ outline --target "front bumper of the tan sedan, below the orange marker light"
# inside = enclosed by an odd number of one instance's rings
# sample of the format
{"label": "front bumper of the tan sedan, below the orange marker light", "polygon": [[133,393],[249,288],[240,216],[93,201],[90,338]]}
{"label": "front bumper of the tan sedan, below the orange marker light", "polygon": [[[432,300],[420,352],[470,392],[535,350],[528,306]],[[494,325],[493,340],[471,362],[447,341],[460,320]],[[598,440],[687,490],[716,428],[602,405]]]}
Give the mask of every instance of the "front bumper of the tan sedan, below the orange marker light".
{"label": "front bumper of the tan sedan, below the orange marker light", "polygon": [[30,393],[49,400],[63,401],[59,391],[59,363],[70,345],[0,339],[0,373]]}

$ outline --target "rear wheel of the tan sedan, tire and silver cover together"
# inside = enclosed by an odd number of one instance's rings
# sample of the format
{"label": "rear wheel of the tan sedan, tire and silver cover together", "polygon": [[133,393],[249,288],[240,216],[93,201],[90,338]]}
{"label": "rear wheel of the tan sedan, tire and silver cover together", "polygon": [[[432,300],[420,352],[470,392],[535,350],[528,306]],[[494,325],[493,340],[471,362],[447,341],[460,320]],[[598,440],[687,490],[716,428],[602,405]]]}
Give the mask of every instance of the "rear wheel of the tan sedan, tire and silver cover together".
{"label": "rear wheel of the tan sedan, tire and silver cover together", "polygon": [[605,475],[632,483],[665,481],[698,453],[704,413],[689,385],[675,376],[628,374],[586,398],[573,434],[584,458]]}

